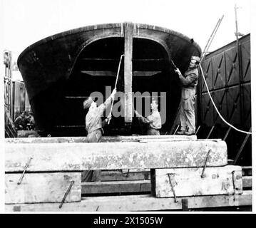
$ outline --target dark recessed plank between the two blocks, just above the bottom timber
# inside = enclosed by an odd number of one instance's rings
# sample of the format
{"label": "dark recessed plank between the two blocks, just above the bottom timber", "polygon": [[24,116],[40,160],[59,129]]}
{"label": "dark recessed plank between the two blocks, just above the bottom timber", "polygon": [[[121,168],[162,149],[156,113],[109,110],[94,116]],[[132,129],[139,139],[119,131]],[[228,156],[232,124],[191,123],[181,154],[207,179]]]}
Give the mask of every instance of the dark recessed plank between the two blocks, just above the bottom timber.
{"label": "dark recessed plank between the two blocks, just above the bottom timber", "polygon": [[82,182],[82,194],[150,192],[150,180]]}

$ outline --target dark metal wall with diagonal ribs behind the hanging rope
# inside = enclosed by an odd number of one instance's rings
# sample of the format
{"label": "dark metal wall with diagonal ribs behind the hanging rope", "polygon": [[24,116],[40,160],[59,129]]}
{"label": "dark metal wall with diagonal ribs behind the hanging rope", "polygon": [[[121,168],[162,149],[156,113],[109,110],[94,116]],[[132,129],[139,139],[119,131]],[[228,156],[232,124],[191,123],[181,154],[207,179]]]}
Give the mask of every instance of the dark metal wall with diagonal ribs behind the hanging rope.
{"label": "dark metal wall with diagonal ribs behind the hanging rope", "polygon": [[[238,47],[238,48],[237,48]],[[239,54],[238,52],[239,51]],[[203,72],[220,114],[236,128],[248,131],[251,128],[251,83],[250,83],[250,34],[229,43],[205,57]],[[199,95],[200,94],[200,95]],[[205,138],[210,128],[215,126],[212,137],[224,138],[228,126],[220,119],[210,101],[203,78],[200,77],[197,102],[197,125],[201,129],[198,137]],[[228,155],[230,159],[240,148],[245,134],[231,130],[228,137]],[[229,142],[232,139],[232,142]],[[248,140],[240,162],[251,162],[251,141]],[[250,150],[250,151],[248,151]],[[249,157],[246,157],[250,154]],[[246,159],[245,159],[246,157]],[[243,160],[243,161],[241,161]]]}

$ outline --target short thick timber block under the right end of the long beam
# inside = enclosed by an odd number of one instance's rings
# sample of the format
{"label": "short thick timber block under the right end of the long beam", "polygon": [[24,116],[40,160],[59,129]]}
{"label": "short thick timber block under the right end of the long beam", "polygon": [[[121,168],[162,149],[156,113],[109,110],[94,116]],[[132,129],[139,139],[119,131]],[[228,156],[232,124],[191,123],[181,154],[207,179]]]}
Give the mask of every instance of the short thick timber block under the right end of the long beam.
{"label": "short thick timber block under the right end of the long beam", "polygon": [[[155,197],[242,194],[242,167],[155,169],[151,181]],[[234,172],[234,175],[232,174]],[[171,183],[170,183],[171,182]]]}

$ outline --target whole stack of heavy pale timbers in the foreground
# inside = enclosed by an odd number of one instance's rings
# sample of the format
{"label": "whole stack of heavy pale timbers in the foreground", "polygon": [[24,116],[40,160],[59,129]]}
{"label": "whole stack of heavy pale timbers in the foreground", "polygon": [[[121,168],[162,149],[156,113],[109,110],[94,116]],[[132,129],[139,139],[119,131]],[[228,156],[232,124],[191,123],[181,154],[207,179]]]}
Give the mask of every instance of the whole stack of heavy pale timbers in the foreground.
{"label": "whole stack of heavy pale timbers in the foreground", "polygon": [[[6,210],[183,209],[184,200],[188,208],[251,205],[251,192],[242,191],[241,167],[227,165],[227,145],[222,140],[173,136],[111,138],[101,143],[79,140],[83,139],[6,140]],[[108,177],[111,172],[121,172],[123,180],[134,177],[136,170],[144,180],[133,180],[134,192],[151,190],[151,194],[83,197],[114,192],[115,182],[112,180],[111,188],[106,176],[103,181],[104,175],[101,182],[81,182],[83,170],[105,170]],[[127,170],[126,175],[123,170]],[[125,192],[131,182],[123,180],[118,180],[114,188]],[[138,185],[139,190],[135,190]],[[101,191],[97,192],[99,187]]]}

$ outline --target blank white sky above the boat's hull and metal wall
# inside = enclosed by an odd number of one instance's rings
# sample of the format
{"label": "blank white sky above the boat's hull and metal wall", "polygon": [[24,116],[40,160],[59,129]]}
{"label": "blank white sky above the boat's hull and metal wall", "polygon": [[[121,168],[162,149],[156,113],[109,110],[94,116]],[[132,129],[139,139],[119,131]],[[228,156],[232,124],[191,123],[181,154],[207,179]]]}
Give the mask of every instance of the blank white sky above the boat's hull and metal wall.
{"label": "blank white sky above the boat's hull and metal wall", "polygon": [[[0,0],[0,50],[12,51],[15,59],[27,46],[47,36],[82,26],[125,21],[178,31],[194,38],[203,50],[217,20],[224,15],[209,49],[215,51],[235,41],[235,4],[239,7],[238,31],[251,33],[255,0]],[[254,33],[252,41],[253,38]],[[252,42],[251,50],[254,48]],[[0,62],[3,62],[1,54]],[[0,68],[2,74],[3,64]],[[252,77],[252,84],[253,81]],[[3,109],[0,111],[0,116],[4,116]],[[254,112],[252,108],[252,116],[256,115]]]}

